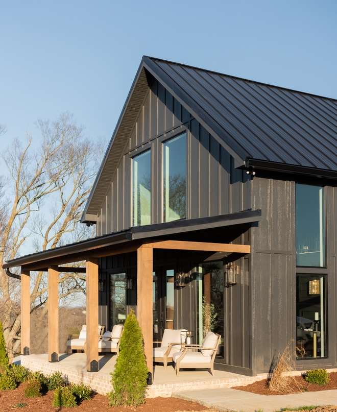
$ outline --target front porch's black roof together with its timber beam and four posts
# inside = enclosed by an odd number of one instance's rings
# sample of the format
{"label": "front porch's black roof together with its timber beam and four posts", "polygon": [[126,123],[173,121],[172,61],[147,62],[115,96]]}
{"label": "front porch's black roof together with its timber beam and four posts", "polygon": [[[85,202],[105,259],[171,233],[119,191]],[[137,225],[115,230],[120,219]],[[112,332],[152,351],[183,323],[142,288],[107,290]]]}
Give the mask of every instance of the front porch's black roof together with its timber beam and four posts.
{"label": "front porch's black roof together with its timber beam and four posts", "polygon": [[[253,222],[260,220],[261,212],[245,211],[229,215],[212,216],[193,221],[180,221],[171,224],[148,225],[148,227],[130,228],[127,231],[112,233],[88,239],[77,244],[39,252],[14,259],[6,265],[9,268],[21,266],[21,353],[22,362],[30,353],[30,272],[46,271],[48,273],[48,354],[47,362],[55,363],[55,368],[67,362],[59,355],[59,291],[58,274],[60,272],[82,272],[86,274],[86,355],[76,354],[85,358],[85,371],[98,373],[103,369],[102,357],[99,356],[98,325],[99,325],[99,263],[104,257],[136,253],[136,314],[142,329],[147,365],[151,376],[159,367],[153,365],[153,251],[176,250],[207,252],[209,254],[229,255],[229,260],[250,253],[250,246],[244,243],[243,233]],[[236,230],[232,243],[213,243],[202,241],[212,238],[212,230],[216,228]],[[205,237],[204,233],[208,235]],[[201,236],[203,233],[203,236]],[[219,239],[219,236],[217,237]],[[225,237],[226,238],[226,237]],[[227,237],[228,238],[228,237]],[[196,239],[199,241],[194,241]],[[218,256],[218,255],[217,255]],[[85,268],[76,267],[76,262],[86,262]],[[71,266],[69,266],[71,263]],[[43,356],[43,355],[36,355]],[[73,356],[73,355],[71,355]],[[28,359],[28,358],[27,358]],[[69,359],[75,359],[69,357]],[[83,361],[82,359],[82,361]],[[112,360],[111,360],[112,361]],[[28,360],[27,360],[28,362]],[[22,364],[23,364],[22,363]],[[83,367],[83,366],[82,366]],[[82,368],[81,367],[81,368]],[[157,369],[156,369],[157,368]],[[159,369],[158,369],[159,368]],[[81,369],[82,370],[82,369]],[[234,371],[236,372],[236,371]],[[188,373],[188,372],[187,372]],[[216,372],[220,373],[220,371]],[[207,373],[206,373],[207,374]],[[249,373],[247,373],[249,374]],[[157,373],[157,376],[160,374]],[[168,378],[168,375],[166,376]],[[207,379],[211,375],[207,376]],[[110,378],[109,378],[110,379]],[[213,379],[211,379],[213,380]],[[154,380],[153,380],[154,381]]]}

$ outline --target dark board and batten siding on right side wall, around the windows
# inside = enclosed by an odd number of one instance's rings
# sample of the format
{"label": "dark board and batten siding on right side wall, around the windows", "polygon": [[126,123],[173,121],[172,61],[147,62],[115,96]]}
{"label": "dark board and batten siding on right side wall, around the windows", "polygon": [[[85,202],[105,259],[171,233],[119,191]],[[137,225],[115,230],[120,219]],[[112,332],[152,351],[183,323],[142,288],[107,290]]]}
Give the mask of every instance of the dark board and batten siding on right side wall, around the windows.
{"label": "dark board and batten siding on right side wall, around the windows", "polygon": [[255,177],[252,208],[262,221],[251,228],[251,325],[254,373],[268,372],[291,339],[296,346],[296,273],[327,275],[328,358],[298,359],[296,368],[336,367],[336,188],[325,186],[327,268],[296,268],[295,182]]}

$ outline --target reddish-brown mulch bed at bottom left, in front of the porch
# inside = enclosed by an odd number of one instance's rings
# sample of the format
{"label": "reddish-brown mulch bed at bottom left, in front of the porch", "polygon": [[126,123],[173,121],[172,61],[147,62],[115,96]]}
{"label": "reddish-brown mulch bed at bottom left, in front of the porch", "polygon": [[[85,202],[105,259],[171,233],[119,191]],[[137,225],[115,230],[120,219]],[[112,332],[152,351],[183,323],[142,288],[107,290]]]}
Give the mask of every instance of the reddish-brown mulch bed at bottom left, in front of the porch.
{"label": "reddish-brown mulch bed at bottom left, in front of the porch", "polygon": [[[18,387],[12,391],[0,391],[0,410],[7,412],[13,410],[22,410],[25,412],[57,412],[70,411],[73,409],[53,408],[54,392],[47,392],[40,398],[26,398],[25,390],[26,383],[20,383]],[[14,405],[18,403],[26,403],[27,406],[23,408],[15,408]],[[109,412],[134,412],[135,409],[130,407],[111,407],[108,409],[108,397],[104,395],[95,394],[90,401],[83,401],[74,411],[104,411]],[[178,398],[153,398],[147,399],[146,403],[136,408],[137,412],[177,412],[177,411],[201,411],[205,410],[205,406],[197,402],[188,402]],[[207,409],[210,412],[211,409]],[[336,411],[337,412],[337,411]]]}

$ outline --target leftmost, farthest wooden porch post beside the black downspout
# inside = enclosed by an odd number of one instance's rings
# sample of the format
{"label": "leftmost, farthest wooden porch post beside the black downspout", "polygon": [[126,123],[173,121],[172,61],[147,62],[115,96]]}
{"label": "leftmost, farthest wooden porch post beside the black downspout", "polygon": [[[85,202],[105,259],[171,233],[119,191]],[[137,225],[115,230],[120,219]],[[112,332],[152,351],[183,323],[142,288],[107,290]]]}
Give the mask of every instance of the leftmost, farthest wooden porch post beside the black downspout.
{"label": "leftmost, farthest wooden porch post beside the black downspout", "polygon": [[21,355],[29,355],[31,328],[30,272],[21,269]]}

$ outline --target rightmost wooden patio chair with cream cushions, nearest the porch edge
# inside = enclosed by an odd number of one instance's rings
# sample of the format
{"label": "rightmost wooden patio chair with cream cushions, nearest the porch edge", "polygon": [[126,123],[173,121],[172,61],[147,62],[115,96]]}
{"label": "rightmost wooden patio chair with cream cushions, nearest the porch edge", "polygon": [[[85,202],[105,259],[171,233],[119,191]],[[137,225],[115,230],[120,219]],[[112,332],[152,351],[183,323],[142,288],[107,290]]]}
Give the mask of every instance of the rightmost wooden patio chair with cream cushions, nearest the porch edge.
{"label": "rightmost wooden patio chair with cream cushions, nearest the porch edge", "polygon": [[[173,354],[176,374],[179,376],[180,368],[196,369],[207,368],[213,375],[213,363],[218,350],[221,336],[218,333],[208,332],[202,345],[184,345],[181,352]],[[198,349],[200,352],[191,351]]]}

